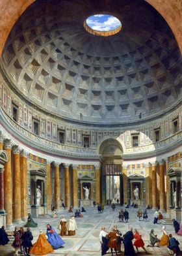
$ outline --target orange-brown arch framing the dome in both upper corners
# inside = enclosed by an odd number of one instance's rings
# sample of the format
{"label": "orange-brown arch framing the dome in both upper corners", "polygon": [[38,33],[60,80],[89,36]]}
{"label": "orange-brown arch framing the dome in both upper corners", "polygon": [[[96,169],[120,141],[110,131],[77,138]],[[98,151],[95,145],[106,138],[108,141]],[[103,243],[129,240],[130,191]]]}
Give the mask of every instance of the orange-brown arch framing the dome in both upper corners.
{"label": "orange-brown arch framing the dome in both upper corners", "polygon": [[[10,30],[21,16],[21,14],[32,4],[35,0],[0,0],[0,56],[3,52],[6,39]],[[145,0],[149,3],[162,17],[166,20],[175,39],[178,42],[179,48],[182,51],[181,40],[181,1],[168,0]]]}

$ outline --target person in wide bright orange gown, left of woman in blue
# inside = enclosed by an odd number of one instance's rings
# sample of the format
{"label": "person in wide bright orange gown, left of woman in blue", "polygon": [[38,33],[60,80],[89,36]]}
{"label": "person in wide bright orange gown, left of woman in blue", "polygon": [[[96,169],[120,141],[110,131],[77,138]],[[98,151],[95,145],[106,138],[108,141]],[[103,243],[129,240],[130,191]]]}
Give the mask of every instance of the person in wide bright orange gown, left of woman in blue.
{"label": "person in wide bright orange gown, left of woman in blue", "polygon": [[45,234],[40,230],[38,239],[31,247],[30,254],[33,255],[45,255],[47,253],[53,253],[53,248],[49,242],[47,242],[47,239],[45,237]]}

